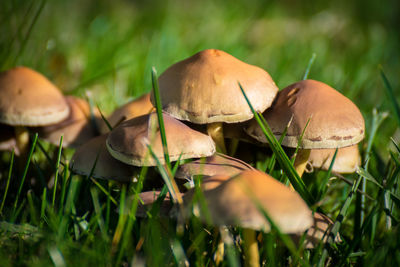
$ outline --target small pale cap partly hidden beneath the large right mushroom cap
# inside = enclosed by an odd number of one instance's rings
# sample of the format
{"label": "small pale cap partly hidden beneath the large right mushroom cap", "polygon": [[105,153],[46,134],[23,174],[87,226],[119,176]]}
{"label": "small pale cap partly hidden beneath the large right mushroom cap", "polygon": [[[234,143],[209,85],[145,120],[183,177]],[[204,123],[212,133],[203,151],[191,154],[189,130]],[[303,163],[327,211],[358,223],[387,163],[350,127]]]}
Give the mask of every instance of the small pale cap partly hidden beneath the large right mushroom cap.
{"label": "small pale cap partly hidden beneath the large right mushroom cap", "polygon": [[[312,149],[308,162],[313,168],[329,170],[336,149]],[[361,165],[358,145],[339,148],[332,171],[337,173],[353,173]]]}

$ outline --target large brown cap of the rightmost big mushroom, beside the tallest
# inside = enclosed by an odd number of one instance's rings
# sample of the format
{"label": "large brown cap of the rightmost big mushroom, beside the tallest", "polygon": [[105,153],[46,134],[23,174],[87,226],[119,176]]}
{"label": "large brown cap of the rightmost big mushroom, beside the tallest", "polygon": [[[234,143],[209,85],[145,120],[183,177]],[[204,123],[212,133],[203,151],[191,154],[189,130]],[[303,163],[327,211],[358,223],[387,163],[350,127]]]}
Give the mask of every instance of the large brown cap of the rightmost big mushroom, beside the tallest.
{"label": "large brown cap of the rightmost big mushroom, beside the tallest", "polygon": [[[277,139],[293,117],[282,142],[287,147],[297,147],[309,119],[300,148],[345,147],[364,138],[364,118],[357,106],[319,81],[303,80],[286,87],[263,115]],[[267,142],[255,120],[249,123],[246,132],[260,142]]]}

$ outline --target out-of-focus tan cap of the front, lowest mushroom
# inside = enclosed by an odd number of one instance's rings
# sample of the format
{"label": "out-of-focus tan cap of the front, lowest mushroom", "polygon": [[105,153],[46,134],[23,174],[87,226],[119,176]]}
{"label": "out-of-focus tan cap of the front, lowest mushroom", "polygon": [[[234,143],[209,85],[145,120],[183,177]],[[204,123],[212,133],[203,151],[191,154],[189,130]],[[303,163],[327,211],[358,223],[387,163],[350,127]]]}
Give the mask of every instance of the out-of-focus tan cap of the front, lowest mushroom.
{"label": "out-of-focus tan cap of the front, lowest mushroom", "polygon": [[[284,233],[304,231],[313,223],[311,210],[296,192],[257,170],[244,171],[203,194],[214,225],[270,231],[255,201]],[[190,199],[184,196],[184,201]]]}

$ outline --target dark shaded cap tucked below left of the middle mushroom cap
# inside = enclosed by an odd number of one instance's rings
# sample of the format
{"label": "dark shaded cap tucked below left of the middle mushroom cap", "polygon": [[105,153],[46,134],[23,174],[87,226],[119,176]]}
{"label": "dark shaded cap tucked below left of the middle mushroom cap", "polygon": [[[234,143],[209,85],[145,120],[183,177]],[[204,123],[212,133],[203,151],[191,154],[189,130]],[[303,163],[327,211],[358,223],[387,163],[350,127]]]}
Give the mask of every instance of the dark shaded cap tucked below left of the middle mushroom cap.
{"label": "dark shaded cap tucked below left of the middle mushroom cap", "polygon": [[89,175],[97,158],[92,176],[95,178],[132,182],[139,169],[114,159],[106,148],[107,135],[93,138],[79,147],[71,159],[71,170],[80,175]]}

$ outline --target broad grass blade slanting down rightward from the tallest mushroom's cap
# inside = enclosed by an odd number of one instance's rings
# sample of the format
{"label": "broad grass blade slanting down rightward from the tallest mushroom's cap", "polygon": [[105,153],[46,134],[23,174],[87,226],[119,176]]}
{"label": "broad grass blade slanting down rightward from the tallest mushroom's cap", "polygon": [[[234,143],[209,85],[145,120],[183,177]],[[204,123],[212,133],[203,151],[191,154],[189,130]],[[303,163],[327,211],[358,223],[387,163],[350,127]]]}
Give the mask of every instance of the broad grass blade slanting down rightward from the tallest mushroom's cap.
{"label": "broad grass blade slanting down rightward from the tallest mushroom's cap", "polygon": [[299,177],[297,174],[296,170],[294,169],[290,159],[286,155],[285,151],[283,151],[281,145],[279,144],[278,140],[276,140],[276,137],[272,133],[271,128],[268,126],[268,123],[264,120],[264,123],[262,122],[260,117],[263,117],[262,115],[259,115],[251,105],[249,99],[246,96],[246,93],[244,92],[242,85],[240,83],[239,87],[240,90],[242,91],[243,96],[245,97],[247,104],[249,105],[251,111],[254,114],[254,118],[256,119],[258,125],[261,127],[261,130],[263,131],[265,137],[268,140],[268,143],[270,144],[270,147],[274,154],[277,157],[277,160],[283,170],[285,171],[286,175],[288,176],[291,184],[293,185],[294,189],[300,194],[300,196],[307,202],[308,205],[312,205],[314,203],[314,198],[310,194],[310,192],[307,190],[303,180]]}

